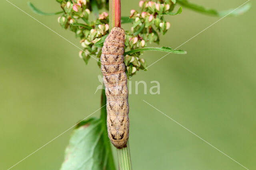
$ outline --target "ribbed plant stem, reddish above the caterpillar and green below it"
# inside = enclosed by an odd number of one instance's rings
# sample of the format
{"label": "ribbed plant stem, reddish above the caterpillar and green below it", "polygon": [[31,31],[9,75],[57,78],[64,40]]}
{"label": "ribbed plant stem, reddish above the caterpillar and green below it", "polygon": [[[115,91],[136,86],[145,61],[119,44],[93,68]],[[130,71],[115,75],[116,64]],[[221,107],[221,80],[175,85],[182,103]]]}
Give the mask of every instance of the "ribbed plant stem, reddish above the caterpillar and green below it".
{"label": "ribbed plant stem, reddish above the caterpillar and green below it", "polygon": [[[120,0],[109,1],[109,30],[113,27],[121,27],[121,3]],[[117,149],[119,170],[131,170],[131,159],[129,145],[122,149]]]}

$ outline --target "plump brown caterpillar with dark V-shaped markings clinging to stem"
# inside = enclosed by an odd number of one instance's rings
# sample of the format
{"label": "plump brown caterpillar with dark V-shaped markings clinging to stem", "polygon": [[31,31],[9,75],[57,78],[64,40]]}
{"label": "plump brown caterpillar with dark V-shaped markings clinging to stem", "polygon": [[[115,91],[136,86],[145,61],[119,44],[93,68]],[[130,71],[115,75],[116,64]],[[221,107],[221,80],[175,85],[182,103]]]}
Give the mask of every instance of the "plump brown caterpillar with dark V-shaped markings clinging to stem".
{"label": "plump brown caterpillar with dark V-shaped markings clinging to stem", "polygon": [[101,72],[107,98],[107,127],[111,143],[118,149],[126,147],[129,137],[129,105],[127,76],[124,65],[124,30],[111,29],[100,56]]}

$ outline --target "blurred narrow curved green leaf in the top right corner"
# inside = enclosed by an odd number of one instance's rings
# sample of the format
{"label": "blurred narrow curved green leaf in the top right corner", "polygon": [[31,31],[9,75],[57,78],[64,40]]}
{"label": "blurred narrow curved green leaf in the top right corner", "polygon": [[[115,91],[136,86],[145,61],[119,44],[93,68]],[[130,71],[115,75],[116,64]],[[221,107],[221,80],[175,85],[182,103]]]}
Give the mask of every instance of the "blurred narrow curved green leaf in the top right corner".
{"label": "blurred narrow curved green leaf in the top right corner", "polygon": [[225,10],[225,11],[220,11],[218,12],[217,10],[214,9],[207,9],[204,8],[203,6],[197,5],[197,4],[193,4],[188,2],[188,0],[177,0],[177,3],[186,7],[186,8],[190,8],[191,10],[194,10],[196,12],[201,12],[203,14],[208,14],[208,15],[213,15],[213,16],[226,16],[227,14],[229,14],[230,16],[238,16],[240,14],[245,13],[246,11],[248,11],[251,7],[251,4],[245,4],[244,6],[234,10],[234,9],[230,9],[230,10]]}

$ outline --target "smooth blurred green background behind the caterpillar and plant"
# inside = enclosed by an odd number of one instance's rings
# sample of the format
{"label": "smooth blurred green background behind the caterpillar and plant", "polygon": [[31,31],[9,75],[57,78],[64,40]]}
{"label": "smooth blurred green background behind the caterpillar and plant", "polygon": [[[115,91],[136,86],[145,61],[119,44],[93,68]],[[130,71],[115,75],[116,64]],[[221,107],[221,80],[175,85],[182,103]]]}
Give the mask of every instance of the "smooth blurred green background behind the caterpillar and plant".
{"label": "smooth blurred green background behind the caterpillar and plant", "polygon": [[[245,2],[191,1],[218,10]],[[60,27],[58,16],[38,16],[26,0],[10,2],[80,47],[79,39]],[[60,10],[54,0],[31,2],[45,12]],[[122,16],[131,9],[138,10],[138,0],[122,0]],[[94,92],[101,72],[96,61],[85,65],[79,49],[7,1],[0,2],[0,11],[0,169],[4,170],[100,107],[100,91]],[[255,11],[252,6],[242,16],[222,19],[179,48],[187,55],[169,54],[132,77],[132,86],[140,80],[148,84],[148,94],[140,85],[139,94],[132,91],[129,96],[134,170],[244,169],[142,100],[248,169],[256,169]],[[186,8],[181,15],[166,18],[171,29],[161,36],[160,46],[172,48],[219,19]],[[165,54],[145,52],[143,57],[149,65]],[[160,82],[159,95],[149,94],[153,80]],[[12,169],[59,169],[71,133]]]}

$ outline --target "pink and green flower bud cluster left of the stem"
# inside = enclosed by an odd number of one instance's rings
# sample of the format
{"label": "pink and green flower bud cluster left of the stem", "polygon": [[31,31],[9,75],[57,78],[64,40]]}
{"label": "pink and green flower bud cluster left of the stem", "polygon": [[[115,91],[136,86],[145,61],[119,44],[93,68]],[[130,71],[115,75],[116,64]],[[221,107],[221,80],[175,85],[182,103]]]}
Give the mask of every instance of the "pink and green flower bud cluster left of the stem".
{"label": "pink and green flower bud cluster left of the stem", "polygon": [[[101,37],[108,34],[108,13],[102,12],[96,20],[89,22],[88,17],[92,7],[88,0],[63,0],[61,7],[64,10],[64,14],[58,18],[58,22],[65,29],[73,31],[76,37],[81,39],[80,43],[83,51],[79,52],[79,57],[82,58],[86,64],[90,56],[99,59],[101,47],[96,47],[94,44],[98,42]],[[98,8],[100,8],[100,6],[98,6]],[[81,19],[85,23],[78,23],[78,20]]]}

